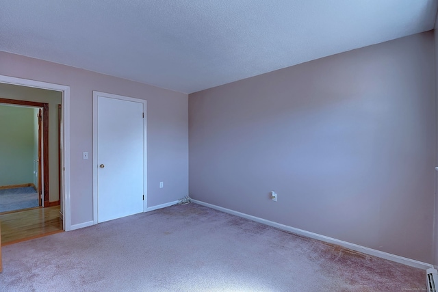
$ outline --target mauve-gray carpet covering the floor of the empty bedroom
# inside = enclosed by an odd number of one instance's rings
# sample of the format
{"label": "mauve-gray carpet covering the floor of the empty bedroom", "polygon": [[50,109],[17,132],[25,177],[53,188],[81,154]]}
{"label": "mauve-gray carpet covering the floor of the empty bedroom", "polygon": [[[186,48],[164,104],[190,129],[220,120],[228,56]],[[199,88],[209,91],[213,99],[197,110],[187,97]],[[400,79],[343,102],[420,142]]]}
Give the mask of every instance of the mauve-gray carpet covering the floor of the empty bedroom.
{"label": "mauve-gray carpet covering the floor of the empty bedroom", "polygon": [[177,205],[3,247],[1,291],[425,291],[425,271]]}

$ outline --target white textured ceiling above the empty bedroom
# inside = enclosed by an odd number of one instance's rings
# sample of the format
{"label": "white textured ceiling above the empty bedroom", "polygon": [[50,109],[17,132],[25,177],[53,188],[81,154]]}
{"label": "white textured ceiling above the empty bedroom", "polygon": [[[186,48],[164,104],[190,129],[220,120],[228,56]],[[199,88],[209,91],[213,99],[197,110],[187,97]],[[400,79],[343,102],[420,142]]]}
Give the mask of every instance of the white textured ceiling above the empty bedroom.
{"label": "white textured ceiling above the empty bedroom", "polygon": [[436,0],[1,0],[0,51],[192,93],[428,31],[436,12]]}

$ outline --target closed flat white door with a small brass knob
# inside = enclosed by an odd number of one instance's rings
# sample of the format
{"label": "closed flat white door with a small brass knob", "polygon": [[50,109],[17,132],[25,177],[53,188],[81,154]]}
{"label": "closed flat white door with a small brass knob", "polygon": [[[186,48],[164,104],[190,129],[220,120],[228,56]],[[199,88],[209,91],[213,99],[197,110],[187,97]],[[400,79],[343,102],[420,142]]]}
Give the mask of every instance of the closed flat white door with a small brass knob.
{"label": "closed flat white door with a small brass knob", "polygon": [[144,102],[95,93],[97,221],[143,212]]}

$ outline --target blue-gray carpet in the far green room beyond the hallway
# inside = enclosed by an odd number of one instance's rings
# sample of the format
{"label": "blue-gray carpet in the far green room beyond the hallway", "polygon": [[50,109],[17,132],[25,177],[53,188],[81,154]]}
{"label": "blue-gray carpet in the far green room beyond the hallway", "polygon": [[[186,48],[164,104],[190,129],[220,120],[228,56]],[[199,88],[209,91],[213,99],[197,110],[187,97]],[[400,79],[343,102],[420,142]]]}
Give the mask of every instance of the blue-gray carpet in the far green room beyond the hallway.
{"label": "blue-gray carpet in the far green room beyond the hallway", "polygon": [[0,213],[38,207],[38,193],[34,187],[0,189]]}

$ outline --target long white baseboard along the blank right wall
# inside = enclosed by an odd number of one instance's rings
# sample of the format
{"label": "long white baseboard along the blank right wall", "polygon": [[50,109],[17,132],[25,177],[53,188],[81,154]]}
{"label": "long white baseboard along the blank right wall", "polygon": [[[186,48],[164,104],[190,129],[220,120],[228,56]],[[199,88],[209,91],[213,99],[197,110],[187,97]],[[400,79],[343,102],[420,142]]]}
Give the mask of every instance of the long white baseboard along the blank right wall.
{"label": "long white baseboard along the blank right wall", "polygon": [[287,225],[284,225],[284,224],[276,223],[276,222],[273,222],[273,221],[265,220],[263,218],[255,217],[253,215],[248,215],[248,214],[245,214],[245,213],[240,213],[240,212],[237,212],[237,211],[233,211],[231,209],[227,209],[227,208],[216,206],[214,204],[209,204],[209,203],[198,201],[198,200],[192,200],[192,202],[194,202],[196,204],[200,204],[200,205],[205,206],[205,207],[209,207],[211,209],[216,209],[218,211],[222,211],[224,213],[229,213],[231,215],[236,215],[236,216],[239,216],[239,217],[246,218],[248,220],[253,220],[253,221],[259,222],[261,224],[266,224],[268,226],[279,228],[281,230],[286,230],[286,231],[289,231],[290,233],[294,233],[296,235],[302,235],[302,236],[305,236],[305,237],[310,237],[310,238],[313,238],[313,239],[318,239],[320,241],[324,241],[324,242],[328,242],[328,243],[333,243],[333,244],[336,244],[336,245],[341,245],[344,248],[349,248],[350,250],[355,250],[357,252],[363,252],[364,254],[370,254],[371,256],[377,256],[379,258],[385,258],[385,259],[387,259],[389,261],[394,261],[396,263],[402,263],[404,265],[409,265],[411,267],[417,267],[417,268],[425,269],[425,270],[433,268],[433,265],[431,265],[431,264],[423,263],[423,262],[420,262],[420,261],[415,261],[415,260],[413,260],[411,258],[404,258],[403,256],[397,256],[396,254],[389,254],[388,252],[381,252],[380,250],[374,250],[372,248],[365,248],[365,246],[362,246],[362,245],[357,245],[355,243],[350,243],[350,242],[347,242],[347,241],[342,241],[342,240],[339,240],[339,239],[334,239],[332,237],[326,237],[324,235],[319,235],[317,233],[311,233],[311,232],[306,231],[306,230],[302,230],[302,229],[294,228],[294,227],[287,226]]}

